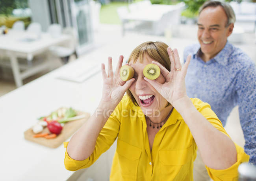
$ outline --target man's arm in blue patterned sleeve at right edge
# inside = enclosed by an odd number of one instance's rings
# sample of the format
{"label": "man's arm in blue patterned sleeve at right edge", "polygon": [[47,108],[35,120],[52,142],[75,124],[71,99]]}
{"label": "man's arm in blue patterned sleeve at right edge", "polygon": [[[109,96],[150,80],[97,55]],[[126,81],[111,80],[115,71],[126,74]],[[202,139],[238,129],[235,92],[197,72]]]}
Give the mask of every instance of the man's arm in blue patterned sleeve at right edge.
{"label": "man's arm in blue patterned sleeve at right edge", "polygon": [[239,118],[245,137],[245,152],[256,165],[256,67],[254,63],[241,69],[237,76]]}

